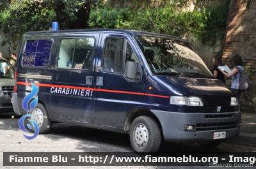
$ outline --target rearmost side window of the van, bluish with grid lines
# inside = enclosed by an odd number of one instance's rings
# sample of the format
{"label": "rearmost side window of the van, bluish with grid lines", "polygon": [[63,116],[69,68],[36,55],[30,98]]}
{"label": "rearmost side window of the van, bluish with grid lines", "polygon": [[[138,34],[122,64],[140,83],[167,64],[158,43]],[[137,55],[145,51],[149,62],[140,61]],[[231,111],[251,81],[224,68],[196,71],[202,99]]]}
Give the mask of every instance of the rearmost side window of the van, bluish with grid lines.
{"label": "rearmost side window of the van, bluish with grid lines", "polygon": [[52,40],[28,40],[23,52],[23,66],[47,67],[51,54]]}

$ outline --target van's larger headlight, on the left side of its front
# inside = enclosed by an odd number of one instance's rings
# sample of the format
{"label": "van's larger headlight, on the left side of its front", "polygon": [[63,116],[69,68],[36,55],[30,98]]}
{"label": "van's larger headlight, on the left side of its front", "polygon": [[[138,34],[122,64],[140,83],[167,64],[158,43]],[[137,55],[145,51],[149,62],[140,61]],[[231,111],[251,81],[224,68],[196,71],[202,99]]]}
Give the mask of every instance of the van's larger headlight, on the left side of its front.
{"label": "van's larger headlight, on the left side of its front", "polygon": [[199,97],[186,97],[186,96],[171,96],[170,104],[172,105],[187,105],[187,106],[204,106],[204,103]]}

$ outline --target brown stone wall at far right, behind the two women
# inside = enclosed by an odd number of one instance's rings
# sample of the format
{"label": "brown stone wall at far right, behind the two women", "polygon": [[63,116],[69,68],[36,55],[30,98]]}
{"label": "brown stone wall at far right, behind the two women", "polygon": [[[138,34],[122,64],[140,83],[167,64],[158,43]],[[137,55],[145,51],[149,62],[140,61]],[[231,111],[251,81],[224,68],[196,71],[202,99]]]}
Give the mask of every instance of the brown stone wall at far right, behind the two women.
{"label": "brown stone wall at far right, behind the two women", "polygon": [[252,4],[246,10],[247,0],[230,1],[230,16],[227,33],[223,45],[223,64],[234,68],[232,57],[239,54],[243,58],[243,66],[250,75],[251,91],[241,96],[241,112],[256,113],[256,6]]}

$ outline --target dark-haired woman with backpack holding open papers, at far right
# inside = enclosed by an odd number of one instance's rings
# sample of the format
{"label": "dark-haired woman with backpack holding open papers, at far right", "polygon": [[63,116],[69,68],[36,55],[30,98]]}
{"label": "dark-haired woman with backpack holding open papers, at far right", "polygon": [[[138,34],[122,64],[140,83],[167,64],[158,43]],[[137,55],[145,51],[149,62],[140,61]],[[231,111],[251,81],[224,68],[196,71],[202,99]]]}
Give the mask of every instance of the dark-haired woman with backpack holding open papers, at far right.
{"label": "dark-haired woman with backpack holding open papers, at far right", "polygon": [[241,73],[239,72],[239,70],[236,68],[239,67],[242,71],[244,71],[244,68],[243,68],[243,60],[242,60],[242,57],[241,55],[234,55],[233,57],[233,61],[234,61],[234,64],[235,64],[235,68],[233,68],[230,73],[226,73],[225,71],[221,70],[221,68],[218,68],[222,73],[223,75],[225,75],[225,77],[229,78],[229,77],[232,77],[232,80],[231,80],[231,89],[232,91],[234,91],[237,95],[237,102],[238,102],[238,110],[240,110],[240,98],[241,98],[241,94],[242,94],[242,91],[240,91],[239,89],[239,82],[240,82],[240,75]]}

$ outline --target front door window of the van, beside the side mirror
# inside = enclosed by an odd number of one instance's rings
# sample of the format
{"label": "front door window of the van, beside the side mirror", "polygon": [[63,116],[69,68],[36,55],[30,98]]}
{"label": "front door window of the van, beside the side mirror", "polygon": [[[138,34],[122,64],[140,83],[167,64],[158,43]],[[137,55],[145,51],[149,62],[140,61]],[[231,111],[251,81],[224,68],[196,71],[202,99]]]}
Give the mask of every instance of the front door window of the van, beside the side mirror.
{"label": "front door window of the van, beside the side mirror", "polygon": [[107,38],[104,50],[103,70],[122,73],[124,38]]}

